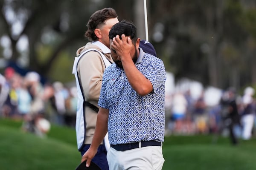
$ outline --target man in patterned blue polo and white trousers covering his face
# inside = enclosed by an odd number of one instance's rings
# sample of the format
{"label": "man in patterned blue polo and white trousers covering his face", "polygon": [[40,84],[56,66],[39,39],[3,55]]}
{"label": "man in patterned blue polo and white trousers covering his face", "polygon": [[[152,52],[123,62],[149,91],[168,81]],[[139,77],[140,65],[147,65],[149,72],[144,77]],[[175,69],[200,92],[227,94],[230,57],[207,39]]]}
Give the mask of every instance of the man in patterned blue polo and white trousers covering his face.
{"label": "man in patterned blue polo and white trousers covering his face", "polygon": [[105,69],[90,161],[108,131],[110,170],[161,170],[166,71],[163,61],[139,48],[136,27],[116,23],[109,32],[114,63]]}

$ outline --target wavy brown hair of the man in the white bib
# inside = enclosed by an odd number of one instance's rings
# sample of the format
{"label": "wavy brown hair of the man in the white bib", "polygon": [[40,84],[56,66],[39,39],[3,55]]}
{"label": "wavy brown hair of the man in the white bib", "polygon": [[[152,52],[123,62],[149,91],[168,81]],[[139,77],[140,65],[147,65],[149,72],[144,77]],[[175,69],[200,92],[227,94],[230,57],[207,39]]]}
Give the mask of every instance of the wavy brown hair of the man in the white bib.
{"label": "wavy brown hair of the man in the white bib", "polygon": [[87,31],[84,36],[90,41],[97,41],[98,37],[94,34],[94,30],[105,23],[106,20],[117,18],[116,11],[113,8],[103,8],[94,12],[87,23]]}

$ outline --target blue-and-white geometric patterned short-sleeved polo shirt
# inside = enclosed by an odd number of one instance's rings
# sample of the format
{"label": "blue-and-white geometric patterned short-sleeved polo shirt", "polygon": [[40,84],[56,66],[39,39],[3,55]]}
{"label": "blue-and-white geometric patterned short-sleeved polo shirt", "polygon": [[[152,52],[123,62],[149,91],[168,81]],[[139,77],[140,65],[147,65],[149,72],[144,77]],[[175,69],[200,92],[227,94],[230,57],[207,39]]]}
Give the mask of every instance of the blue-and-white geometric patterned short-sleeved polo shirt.
{"label": "blue-and-white geometric patterned short-sleeved polo shirt", "polygon": [[163,142],[164,98],[166,71],[163,61],[145,54],[136,67],[154,88],[140,96],[128,82],[123,69],[112,64],[103,74],[98,105],[109,109],[108,135],[110,144],[149,140]]}

